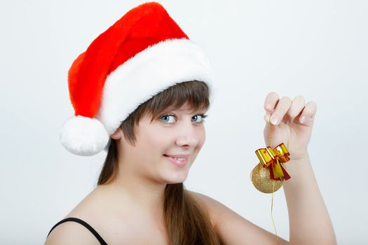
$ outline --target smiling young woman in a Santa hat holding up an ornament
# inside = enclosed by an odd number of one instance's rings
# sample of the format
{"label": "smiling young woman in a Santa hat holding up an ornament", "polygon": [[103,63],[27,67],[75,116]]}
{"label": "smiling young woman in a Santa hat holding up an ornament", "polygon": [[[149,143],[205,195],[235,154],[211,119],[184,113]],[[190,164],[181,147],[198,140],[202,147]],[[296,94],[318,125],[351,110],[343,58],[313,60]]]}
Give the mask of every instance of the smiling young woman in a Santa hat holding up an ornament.
{"label": "smiling young woman in a Santa hat holding up an ornament", "polygon": [[[62,144],[79,155],[106,148],[107,158],[95,190],[50,230],[46,244],[288,244],[184,189],[205,142],[213,78],[203,51],[160,4],[133,8],[104,31],[74,61],[68,80],[76,116],[65,123]],[[273,142],[291,153],[293,178],[284,184],[290,243],[336,244],[308,158],[315,103],[271,92],[265,109]]]}

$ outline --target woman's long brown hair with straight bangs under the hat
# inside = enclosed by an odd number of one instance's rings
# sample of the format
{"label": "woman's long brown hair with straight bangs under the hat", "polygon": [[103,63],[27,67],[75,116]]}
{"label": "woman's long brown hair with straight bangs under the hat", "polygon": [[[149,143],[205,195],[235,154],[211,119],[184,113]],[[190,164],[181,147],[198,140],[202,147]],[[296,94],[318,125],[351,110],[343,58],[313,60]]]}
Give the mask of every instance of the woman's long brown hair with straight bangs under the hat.
{"label": "woman's long brown hair with straight bangs under the hat", "polygon": [[[139,105],[121,124],[125,139],[135,144],[134,128],[142,116],[148,114],[153,119],[169,106],[179,109],[184,104],[188,104],[193,111],[208,109],[207,85],[197,80],[177,83]],[[97,185],[113,181],[117,170],[118,148],[116,141],[111,139]],[[220,244],[208,214],[183,183],[167,184],[164,195],[163,211],[170,245]]]}

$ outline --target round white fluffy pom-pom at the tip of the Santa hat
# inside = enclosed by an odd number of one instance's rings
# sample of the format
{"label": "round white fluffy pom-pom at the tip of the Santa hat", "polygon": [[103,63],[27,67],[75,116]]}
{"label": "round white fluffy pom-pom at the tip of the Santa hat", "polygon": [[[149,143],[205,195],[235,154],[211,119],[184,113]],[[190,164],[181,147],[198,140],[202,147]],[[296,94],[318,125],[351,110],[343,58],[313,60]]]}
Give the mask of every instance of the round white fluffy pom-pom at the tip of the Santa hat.
{"label": "round white fluffy pom-pom at the tip of the Santa hat", "polygon": [[76,116],[62,126],[60,141],[76,155],[95,155],[109,143],[109,134],[95,118]]}

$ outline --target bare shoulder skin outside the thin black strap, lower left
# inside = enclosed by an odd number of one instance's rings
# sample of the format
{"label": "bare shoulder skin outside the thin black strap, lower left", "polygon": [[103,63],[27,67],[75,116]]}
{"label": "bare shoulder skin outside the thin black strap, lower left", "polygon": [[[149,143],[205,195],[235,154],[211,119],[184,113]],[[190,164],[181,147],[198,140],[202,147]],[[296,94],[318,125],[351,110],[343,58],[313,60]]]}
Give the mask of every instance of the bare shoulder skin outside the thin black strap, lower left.
{"label": "bare shoulder skin outside the thin black strap, lower left", "polygon": [[45,245],[61,244],[100,244],[96,237],[83,225],[76,222],[64,222],[50,232]]}

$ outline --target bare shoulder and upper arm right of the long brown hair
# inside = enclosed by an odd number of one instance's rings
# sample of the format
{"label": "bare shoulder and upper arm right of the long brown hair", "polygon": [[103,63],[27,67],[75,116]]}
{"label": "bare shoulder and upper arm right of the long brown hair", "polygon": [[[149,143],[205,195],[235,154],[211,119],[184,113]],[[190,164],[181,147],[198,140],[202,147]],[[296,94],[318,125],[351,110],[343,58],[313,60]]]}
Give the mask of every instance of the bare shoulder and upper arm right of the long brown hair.
{"label": "bare shoulder and upper arm right of the long brown hair", "polygon": [[207,195],[190,192],[205,204],[214,221],[214,230],[222,244],[289,244],[288,241],[273,235],[254,223],[243,218],[221,202]]}

